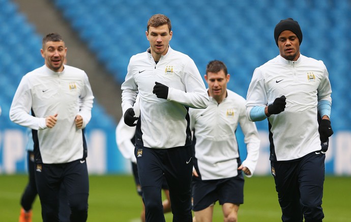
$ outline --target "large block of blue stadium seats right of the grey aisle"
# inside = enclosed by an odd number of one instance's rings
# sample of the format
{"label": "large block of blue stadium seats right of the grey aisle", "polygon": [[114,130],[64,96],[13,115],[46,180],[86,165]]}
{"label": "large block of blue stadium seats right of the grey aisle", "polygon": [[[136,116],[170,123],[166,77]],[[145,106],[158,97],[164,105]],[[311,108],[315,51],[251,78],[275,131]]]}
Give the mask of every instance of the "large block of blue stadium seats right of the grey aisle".
{"label": "large block of blue stadium seats right of the grey aisle", "polygon": [[[148,48],[144,37],[152,14],[172,20],[171,46],[188,54],[201,74],[213,59],[224,61],[231,74],[229,89],[246,96],[255,67],[279,53],[273,39],[280,19],[293,17],[303,31],[301,52],[323,60],[333,87],[335,129],[348,129],[346,104],[350,85],[350,1],[69,1],[55,0],[64,17],[118,82],[123,82],[130,56]],[[345,100],[347,102],[345,102]]]}

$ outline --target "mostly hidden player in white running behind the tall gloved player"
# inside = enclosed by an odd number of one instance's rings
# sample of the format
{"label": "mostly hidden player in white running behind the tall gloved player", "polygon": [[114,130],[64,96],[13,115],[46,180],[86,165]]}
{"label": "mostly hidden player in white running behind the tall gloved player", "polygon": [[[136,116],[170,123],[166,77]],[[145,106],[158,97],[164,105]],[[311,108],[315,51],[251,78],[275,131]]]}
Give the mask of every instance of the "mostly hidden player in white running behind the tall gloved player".
{"label": "mostly hidden player in white running behind the tall gloved player", "polygon": [[[133,110],[134,110],[135,116],[139,117],[139,115],[140,115],[139,95],[136,97],[135,103],[133,105]],[[122,117],[122,119],[120,120],[120,122],[118,123],[118,125],[116,127],[116,143],[117,143],[118,149],[121,151],[123,157],[131,161],[132,172],[133,172],[133,177],[134,177],[136,189],[137,189],[138,195],[140,197],[142,197],[142,190],[141,190],[141,185],[140,185],[139,176],[138,176],[136,158],[134,155],[135,128],[136,128],[135,126],[130,127],[130,126],[126,125],[124,123],[123,117]],[[165,177],[163,177],[162,189],[163,189],[164,194],[167,198],[162,202],[163,212],[167,213],[167,212],[171,211],[171,208],[170,208],[170,200],[169,200],[169,188],[168,188],[168,184],[167,184]],[[142,210],[141,210],[140,218],[141,218],[141,222],[145,222],[144,203],[142,203]]]}

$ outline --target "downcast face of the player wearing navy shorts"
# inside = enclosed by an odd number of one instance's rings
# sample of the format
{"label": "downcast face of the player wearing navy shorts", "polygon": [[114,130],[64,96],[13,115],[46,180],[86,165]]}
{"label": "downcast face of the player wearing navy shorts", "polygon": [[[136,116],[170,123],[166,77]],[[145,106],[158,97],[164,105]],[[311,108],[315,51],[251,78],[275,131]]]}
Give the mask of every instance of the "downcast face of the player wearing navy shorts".
{"label": "downcast face of the player wearing navy shorts", "polygon": [[209,95],[212,96],[218,103],[220,103],[227,95],[227,82],[230,75],[225,75],[223,70],[219,72],[208,72],[204,76],[209,85]]}

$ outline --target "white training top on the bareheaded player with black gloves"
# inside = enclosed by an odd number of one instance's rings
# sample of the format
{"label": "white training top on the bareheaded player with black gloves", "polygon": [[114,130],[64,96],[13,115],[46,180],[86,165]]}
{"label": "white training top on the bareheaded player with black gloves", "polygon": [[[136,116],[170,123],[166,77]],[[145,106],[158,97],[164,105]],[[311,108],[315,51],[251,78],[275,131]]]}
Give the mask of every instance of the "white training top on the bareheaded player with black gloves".
{"label": "white training top on the bareheaded player with black gloves", "polygon": [[[155,81],[169,87],[167,99],[153,94]],[[136,145],[165,149],[191,144],[188,107],[206,108],[209,96],[194,61],[168,48],[156,64],[150,48],[131,57],[122,84],[123,114],[140,94]]]}

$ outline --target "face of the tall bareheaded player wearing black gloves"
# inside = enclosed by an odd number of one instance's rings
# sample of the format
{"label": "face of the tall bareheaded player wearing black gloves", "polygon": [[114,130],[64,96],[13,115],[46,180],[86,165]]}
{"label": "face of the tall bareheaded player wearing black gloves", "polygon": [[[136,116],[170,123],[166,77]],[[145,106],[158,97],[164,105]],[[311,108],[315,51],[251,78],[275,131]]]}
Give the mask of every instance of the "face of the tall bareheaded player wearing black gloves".
{"label": "face of the tall bareheaded player wearing black gloves", "polygon": [[[167,53],[169,41],[172,38],[172,31],[169,32],[168,25],[164,24],[158,27],[149,27],[146,36],[150,42],[151,54],[158,59]],[[156,59],[156,58],[154,58]]]}

